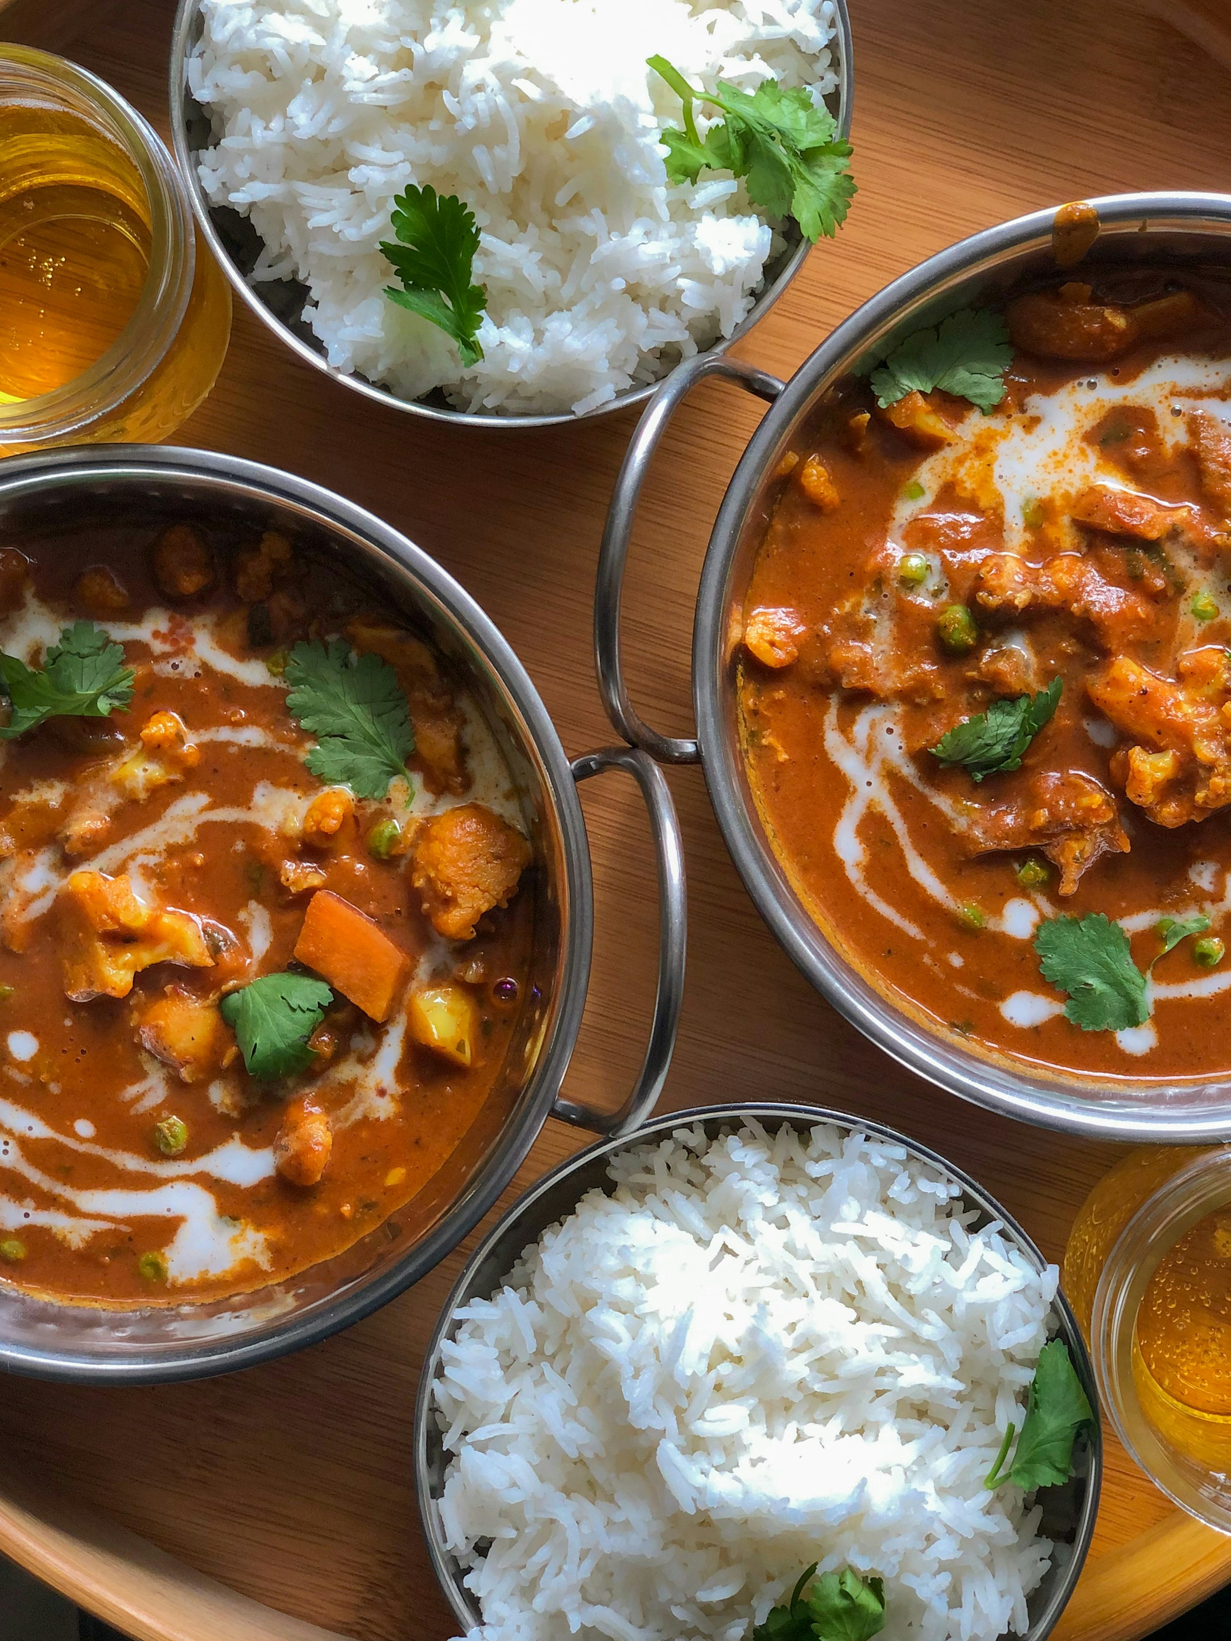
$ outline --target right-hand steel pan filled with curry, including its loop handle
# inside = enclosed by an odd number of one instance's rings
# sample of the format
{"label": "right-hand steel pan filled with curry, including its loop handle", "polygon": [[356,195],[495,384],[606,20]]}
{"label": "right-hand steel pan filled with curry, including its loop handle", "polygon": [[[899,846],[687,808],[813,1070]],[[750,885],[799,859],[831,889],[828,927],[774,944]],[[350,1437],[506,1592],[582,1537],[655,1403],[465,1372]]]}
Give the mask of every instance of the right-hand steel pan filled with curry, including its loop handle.
{"label": "right-hand steel pan filled with curry, including its loop handle", "polygon": [[[663,387],[604,542],[616,722],[701,758],[809,980],[904,1065],[1027,1121],[1231,1121],[1231,207],[1037,212],[873,297],[781,384]],[[771,400],[698,599],[696,740],[632,709],[619,587],[691,382]],[[1224,932],[1224,930],[1223,930]]]}

